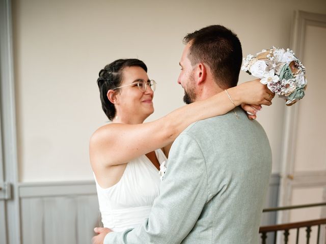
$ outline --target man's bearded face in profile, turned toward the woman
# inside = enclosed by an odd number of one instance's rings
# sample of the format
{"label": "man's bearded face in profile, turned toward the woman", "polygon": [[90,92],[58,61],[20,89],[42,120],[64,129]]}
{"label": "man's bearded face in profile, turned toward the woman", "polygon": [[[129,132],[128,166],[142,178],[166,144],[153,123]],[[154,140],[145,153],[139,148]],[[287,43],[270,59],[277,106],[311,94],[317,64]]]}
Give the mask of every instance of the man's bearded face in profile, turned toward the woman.
{"label": "man's bearded face in profile, turned toward the woman", "polygon": [[184,89],[183,101],[186,104],[193,103],[196,100],[196,82],[194,68],[188,58],[189,48],[191,44],[187,43],[184,47],[179,65],[181,71],[178,77],[178,84]]}

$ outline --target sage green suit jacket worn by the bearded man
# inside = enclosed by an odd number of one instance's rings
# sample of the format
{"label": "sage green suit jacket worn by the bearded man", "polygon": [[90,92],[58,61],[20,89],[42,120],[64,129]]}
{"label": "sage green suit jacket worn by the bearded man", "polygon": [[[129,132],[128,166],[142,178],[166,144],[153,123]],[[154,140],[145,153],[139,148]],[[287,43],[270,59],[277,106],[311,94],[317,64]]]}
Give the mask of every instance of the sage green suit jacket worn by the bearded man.
{"label": "sage green suit jacket worn by the bearded man", "polygon": [[240,109],[197,121],[173,143],[150,216],[104,244],[255,244],[271,172],[267,136]]}

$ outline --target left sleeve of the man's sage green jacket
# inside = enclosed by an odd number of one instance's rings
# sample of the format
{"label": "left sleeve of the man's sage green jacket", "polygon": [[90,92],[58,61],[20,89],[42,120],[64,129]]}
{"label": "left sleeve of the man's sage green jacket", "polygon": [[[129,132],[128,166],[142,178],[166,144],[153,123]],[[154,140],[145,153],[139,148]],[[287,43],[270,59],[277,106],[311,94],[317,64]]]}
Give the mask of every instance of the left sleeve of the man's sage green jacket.
{"label": "left sleeve of the man's sage green jacket", "polygon": [[170,150],[167,171],[148,219],[134,229],[111,232],[104,244],[176,244],[193,229],[207,202],[207,170],[200,146],[182,133]]}

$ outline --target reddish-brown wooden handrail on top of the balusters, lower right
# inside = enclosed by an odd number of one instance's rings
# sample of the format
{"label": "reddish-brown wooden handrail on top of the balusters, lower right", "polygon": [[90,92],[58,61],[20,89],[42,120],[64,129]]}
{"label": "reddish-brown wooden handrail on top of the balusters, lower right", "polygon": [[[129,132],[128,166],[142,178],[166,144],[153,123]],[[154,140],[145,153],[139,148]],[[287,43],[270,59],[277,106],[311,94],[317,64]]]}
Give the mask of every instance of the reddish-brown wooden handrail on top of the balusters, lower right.
{"label": "reddish-brown wooden handrail on top of the balusters, lower right", "polygon": [[326,219],[310,220],[310,221],[279,224],[279,225],[269,225],[269,226],[260,227],[259,233],[278,231],[278,230],[289,230],[289,229],[296,229],[296,228],[301,228],[301,227],[322,225],[322,224],[326,224]]}

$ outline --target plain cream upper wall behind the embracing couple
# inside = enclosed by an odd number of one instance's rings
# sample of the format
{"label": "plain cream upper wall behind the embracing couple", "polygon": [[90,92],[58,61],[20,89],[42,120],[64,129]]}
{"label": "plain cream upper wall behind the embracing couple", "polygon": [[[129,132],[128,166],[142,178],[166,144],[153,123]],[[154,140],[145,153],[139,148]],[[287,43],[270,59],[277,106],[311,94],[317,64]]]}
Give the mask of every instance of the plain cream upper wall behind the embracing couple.
{"label": "plain cream upper wall behind the embracing couple", "polygon": [[[158,83],[149,120],[156,119],[183,105],[176,79],[186,33],[223,24],[238,34],[244,56],[271,45],[286,48],[295,10],[326,14],[326,3],[13,1],[20,180],[92,179],[88,141],[107,121],[96,84],[106,64],[130,57],[147,64]],[[240,75],[240,82],[250,79]],[[273,172],[280,168],[284,109],[274,99],[258,114],[273,149]]]}

